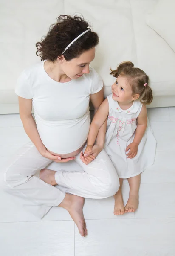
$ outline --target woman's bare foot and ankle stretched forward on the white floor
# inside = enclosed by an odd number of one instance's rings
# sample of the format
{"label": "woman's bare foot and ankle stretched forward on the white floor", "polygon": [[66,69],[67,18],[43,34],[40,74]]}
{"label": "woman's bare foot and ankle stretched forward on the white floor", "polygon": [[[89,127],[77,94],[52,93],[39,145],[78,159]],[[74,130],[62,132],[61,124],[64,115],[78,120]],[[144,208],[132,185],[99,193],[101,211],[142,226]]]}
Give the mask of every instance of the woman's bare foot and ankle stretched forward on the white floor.
{"label": "woman's bare foot and ankle stretched forward on the white floor", "polygon": [[68,210],[73,221],[78,227],[81,236],[86,236],[88,234],[83,215],[84,201],[85,199],[80,196],[66,194],[64,200],[61,202],[61,204],[59,204],[60,207]]}

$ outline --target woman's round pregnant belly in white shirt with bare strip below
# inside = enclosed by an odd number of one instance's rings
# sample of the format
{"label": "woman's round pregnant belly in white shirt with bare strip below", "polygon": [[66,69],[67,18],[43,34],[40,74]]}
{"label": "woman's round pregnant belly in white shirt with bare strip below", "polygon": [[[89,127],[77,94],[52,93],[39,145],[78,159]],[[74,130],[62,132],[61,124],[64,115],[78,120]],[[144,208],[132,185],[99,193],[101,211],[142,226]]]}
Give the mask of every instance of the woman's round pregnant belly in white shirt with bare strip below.
{"label": "woman's round pregnant belly in white shirt with bare strip below", "polygon": [[62,158],[74,157],[86,143],[90,128],[90,115],[80,119],[37,122],[37,129],[45,147]]}

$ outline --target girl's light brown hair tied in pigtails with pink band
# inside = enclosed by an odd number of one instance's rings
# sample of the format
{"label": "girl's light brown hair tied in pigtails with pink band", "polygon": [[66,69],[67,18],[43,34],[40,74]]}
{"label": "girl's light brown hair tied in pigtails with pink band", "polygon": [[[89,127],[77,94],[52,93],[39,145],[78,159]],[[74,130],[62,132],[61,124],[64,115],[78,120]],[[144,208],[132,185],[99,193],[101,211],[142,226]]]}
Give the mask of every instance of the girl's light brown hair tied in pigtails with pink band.
{"label": "girl's light brown hair tied in pigtails with pink band", "polygon": [[133,95],[139,94],[139,99],[142,104],[149,105],[152,102],[152,89],[148,85],[149,76],[147,76],[143,70],[134,67],[134,64],[130,61],[124,61],[119,64],[116,70],[112,70],[111,68],[110,70],[110,75],[113,75],[116,78],[119,75],[128,78]]}

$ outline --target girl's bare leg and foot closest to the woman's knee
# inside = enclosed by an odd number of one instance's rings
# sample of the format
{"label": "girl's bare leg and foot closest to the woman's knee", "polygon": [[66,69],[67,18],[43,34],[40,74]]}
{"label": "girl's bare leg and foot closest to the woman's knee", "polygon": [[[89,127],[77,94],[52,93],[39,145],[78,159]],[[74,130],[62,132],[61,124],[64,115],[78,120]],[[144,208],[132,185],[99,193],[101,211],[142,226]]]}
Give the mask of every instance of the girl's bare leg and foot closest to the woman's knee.
{"label": "girl's bare leg and foot closest to the woman's knee", "polygon": [[115,205],[114,205],[114,214],[115,215],[123,215],[124,214],[124,204],[123,204],[123,197],[121,193],[123,179],[119,178],[120,187],[119,190],[114,195]]}

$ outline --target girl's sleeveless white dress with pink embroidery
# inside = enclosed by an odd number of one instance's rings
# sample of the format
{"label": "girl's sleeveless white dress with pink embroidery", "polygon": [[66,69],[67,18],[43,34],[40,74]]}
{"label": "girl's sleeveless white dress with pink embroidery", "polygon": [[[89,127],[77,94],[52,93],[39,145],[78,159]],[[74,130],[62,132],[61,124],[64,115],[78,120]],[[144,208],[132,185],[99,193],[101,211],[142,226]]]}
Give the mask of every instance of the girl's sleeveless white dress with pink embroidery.
{"label": "girl's sleeveless white dress with pink embroidery", "polygon": [[134,177],[154,163],[157,144],[155,137],[148,122],[147,130],[138,145],[137,155],[132,159],[127,158],[126,148],[133,142],[137,117],[142,104],[137,100],[129,109],[122,110],[118,102],[113,100],[112,94],[107,96],[107,99],[109,115],[105,150],[113,162],[119,178]]}

